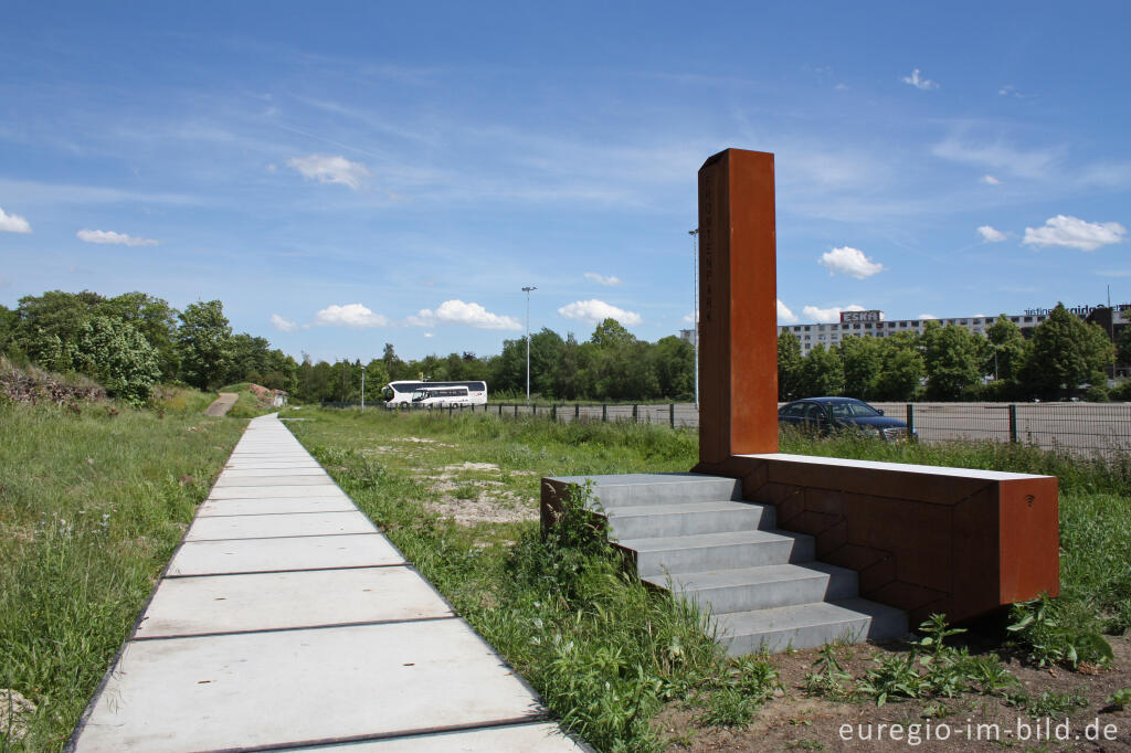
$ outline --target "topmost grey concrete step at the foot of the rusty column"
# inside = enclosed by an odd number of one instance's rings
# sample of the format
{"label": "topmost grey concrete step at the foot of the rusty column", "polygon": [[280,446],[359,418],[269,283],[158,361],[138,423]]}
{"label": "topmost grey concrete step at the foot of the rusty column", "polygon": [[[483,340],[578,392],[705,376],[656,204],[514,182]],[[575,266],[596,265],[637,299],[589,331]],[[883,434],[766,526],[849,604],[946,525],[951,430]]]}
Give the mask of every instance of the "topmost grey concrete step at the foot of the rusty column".
{"label": "topmost grey concrete step at the foot of the rusty column", "polygon": [[742,499],[742,482],[705,474],[554,476],[553,481],[578,485],[592,481],[594,496],[604,508]]}

